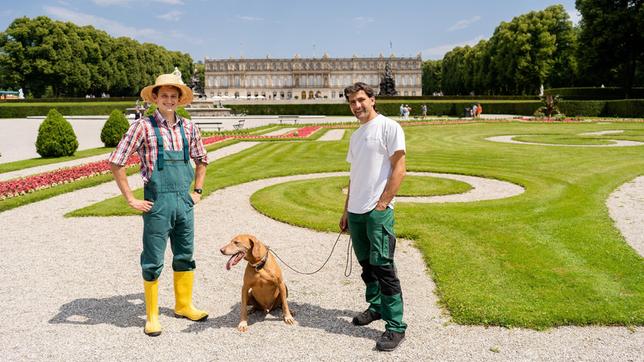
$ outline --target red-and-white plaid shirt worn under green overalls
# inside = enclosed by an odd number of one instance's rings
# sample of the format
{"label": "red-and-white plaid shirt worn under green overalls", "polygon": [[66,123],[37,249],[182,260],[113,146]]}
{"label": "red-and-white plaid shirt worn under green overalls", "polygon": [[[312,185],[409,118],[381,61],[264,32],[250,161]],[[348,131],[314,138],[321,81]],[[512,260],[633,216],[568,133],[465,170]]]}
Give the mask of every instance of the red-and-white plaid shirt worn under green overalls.
{"label": "red-and-white plaid shirt worn under green overalls", "polygon": [[[195,162],[199,161],[208,164],[208,156],[201,141],[199,128],[189,120],[179,117],[176,113],[175,117],[177,122],[170,128],[161,113],[158,110],[154,112],[154,119],[159,126],[161,137],[163,137],[163,148],[174,151],[183,149],[183,140],[181,139],[181,129],[179,127],[179,123],[183,122],[183,128],[189,143],[190,158]],[[143,177],[143,182],[147,183],[152,177],[154,164],[157,160],[157,137],[154,133],[152,122],[148,117],[143,117],[130,125],[130,128],[116,146],[116,150],[110,154],[108,161],[125,166],[127,159],[135,151],[141,158],[141,177]]]}

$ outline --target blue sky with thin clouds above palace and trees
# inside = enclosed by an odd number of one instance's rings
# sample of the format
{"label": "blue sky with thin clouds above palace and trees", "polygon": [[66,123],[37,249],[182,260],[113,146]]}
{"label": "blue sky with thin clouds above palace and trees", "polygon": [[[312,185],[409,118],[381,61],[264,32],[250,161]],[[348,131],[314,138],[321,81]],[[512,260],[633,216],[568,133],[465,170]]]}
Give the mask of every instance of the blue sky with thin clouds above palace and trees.
{"label": "blue sky with thin clouds above palace and trees", "polygon": [[416,56],[440,59],[488,39],[501,21],[574,0],[0,0],[0,30],[17,17],[45,15],[93,25],[192,58]]}

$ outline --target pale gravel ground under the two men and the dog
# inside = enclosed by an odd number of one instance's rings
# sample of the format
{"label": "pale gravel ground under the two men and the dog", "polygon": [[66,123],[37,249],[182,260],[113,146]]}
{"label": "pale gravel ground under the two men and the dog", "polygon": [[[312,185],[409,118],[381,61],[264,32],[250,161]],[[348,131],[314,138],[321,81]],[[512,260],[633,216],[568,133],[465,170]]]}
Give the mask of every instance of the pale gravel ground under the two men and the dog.
{"label": "pale gravel ground under the two men and the dog", "polygon": [[[251,146],[242,143],[215,152],[223,157]],[[314,276],[296,274],[282,266],[296,326],[283,323],[278,310],[269,315],[251,314],[249,332],[238,332],[235,327],[245,262],[226,271],[227,258],[219,253],[224,243],[239,233],[254,234],[291,266],[309,271],[324,262],[338,236],[265,217],[252,208],[249,197],[277,183],[343,174],[254,181],[218,190],[197,205],[194,301],[210,312],[210,318],[199,323],[173,317],[168,248],[159,291],[164,330],[156,338],[143,334],[140,217],[63,217],[66,212],[118,195],[114,183],[3,212],[0,272],[5,279],[0,298],[8,311],[0,316],[3,359],[644,360],[642,327],[533,331],[450,322],[449,314],[438,305],[435,285],[420,253],[407,240],[399,240],[396,262],[409,328],[396,351],[374,349],[384,329],[382,321],[365,327],[351,324],[351,317],[366,305],[355,258],[351,276],[343,276],[346,236],[341,238],[340,251],[336,250],[327,267]],[[136,177],[130,179],[134,182]],[[644,182],[634,188],[641,206]],[[643,226],[641,222],[636,225],[640,234]]]}

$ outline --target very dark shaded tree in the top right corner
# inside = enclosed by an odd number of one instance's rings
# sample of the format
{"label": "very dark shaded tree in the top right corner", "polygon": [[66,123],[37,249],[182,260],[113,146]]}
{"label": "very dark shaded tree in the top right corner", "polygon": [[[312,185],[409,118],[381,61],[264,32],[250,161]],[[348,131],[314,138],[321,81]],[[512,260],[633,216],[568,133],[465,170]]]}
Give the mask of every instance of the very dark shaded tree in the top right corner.
{"label": "very dark shaded tree in the top right corner", "polygon": [[[621,85],[626,96],[644,70],[644,1],[577,0],[579,60],[589,84]],[[641,83],[640,83],[641,84]]]}

